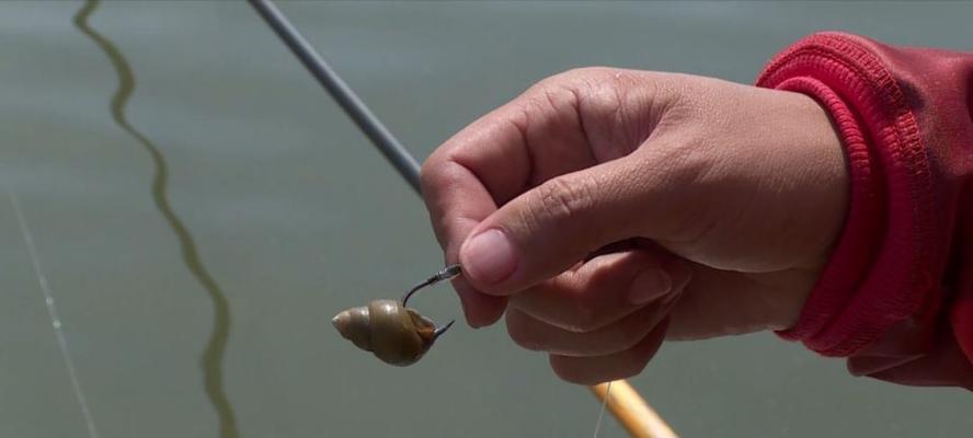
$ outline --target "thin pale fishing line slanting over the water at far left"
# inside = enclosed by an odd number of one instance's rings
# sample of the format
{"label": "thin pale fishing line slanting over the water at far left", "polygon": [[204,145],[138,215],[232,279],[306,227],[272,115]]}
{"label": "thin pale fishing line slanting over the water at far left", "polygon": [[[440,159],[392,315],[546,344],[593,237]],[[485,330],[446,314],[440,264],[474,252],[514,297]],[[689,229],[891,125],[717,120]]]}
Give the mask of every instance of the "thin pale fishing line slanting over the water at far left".
{"label": "thin pale fishing line slanting over the water at far left", "polygon": [[71,359],[71,354],[68,351],[68,338],[65,337],[65,332],[61,330],[60,318],[57,315],[57,308],[54,306],[54,297],[50,293],[50,287],[47,286],[47,277],[45,277],[44,272],[41,270],[41,257],[37,256],[37,247],[34,245],[34,235],[27,227],[27,221],[24,219],[24,214],[23,210],[21,210],[16,195],[13,194],[13,191],[11,191],[10,187],[4,188],[7,188],[7,196],[10,198],[10,204],[13,206],[13,212],[16,215],[16,221],[20,224],[21,234],[24,237],[24,245],[27,246],[27,254],[31,256],[31,263],[34,265],[34,274],[37,275],[37,284],[41,285],[41,292],[44,295],[44,304],[47,307],[47,315],[50,316],[50,325],[54,327],[54,334],[57,337],[57,344],[58,347],[60,347],[61,357],[65,359],[68,377],[71,379],[71,388],[75,390],[75,397],[78,400],[78,405],[81,406],[81,415],[84,416],[84,423],[88,424],[88,435],[91,438],[98,438],[99,435],[98,429],[94,428],[94,418],[91,416],[91,411],[88,408],[88,401],[84,399],[84,392],[81,390],[81,381],[78,379],[78,371],[75,370],[75,360]]}

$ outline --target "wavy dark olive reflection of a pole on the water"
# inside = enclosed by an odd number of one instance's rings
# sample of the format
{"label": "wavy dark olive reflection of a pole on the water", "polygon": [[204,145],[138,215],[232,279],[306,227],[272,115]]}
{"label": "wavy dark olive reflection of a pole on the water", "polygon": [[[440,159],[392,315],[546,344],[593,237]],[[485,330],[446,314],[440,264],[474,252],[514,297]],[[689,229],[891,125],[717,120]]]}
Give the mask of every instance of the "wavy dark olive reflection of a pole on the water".
{"label": "wavy dark olive reflection of a pole on the water", "polygon": [[179,218],[172,209],[172,205],[169,203],[168,195],[165,194],[167,182],[169,178],[169,169],[165,163],[165,157],[159,148],[152,143],[152,141],[131,126],[125,115],[125,105],[128,103],[128,99],[135,90],[135,76],[122,51],[118,50],[118,48],[105,36],[95,32],[88,23],[88,19],[94,12],[95,8],[98,8],[98,4],[99,0],[85,1],[84,5],[82,5],[75,15],[75,25],[84,35],[88,35],[105,53],[108,60],[112,61],[112,66],[118,74],[118,89],[112,96],[111,103],[112,118],[119,128],[135,138],[152,158],[152,164],[156,169],[156,174],[152,180],[152,200],[156,203],[156,208],[162,217],[165,218],[167,223],[169,223],[169,227],[172,228],[172,231],[179,239],[179,244],[182,249],[183,263],[185,263],[196,281],[206,289],[209,299],[213,301],[213,333],[209,336],[209,342],[206,344],[206,349],[203,350],[203,357],[201,359],[203,367],[203,382],[206,388],[206,395],[209,397],[209,402],[213,404],[213,407],[219,416],[220,437],[236,438],[239,436],[237,433],[237,420],[233,416],[233,408],[230,405],[224,389],[222,379],[222,358],[227,348],[227,341],[230,336],[229,302],[220,290],[219,285],[213,279],[213,276],[209,275],[209,272],[199,258],[199,252],[196,250],[196,243],[193,241],[193,235],[190,233],[190,230],[183,223],[182,219]]}

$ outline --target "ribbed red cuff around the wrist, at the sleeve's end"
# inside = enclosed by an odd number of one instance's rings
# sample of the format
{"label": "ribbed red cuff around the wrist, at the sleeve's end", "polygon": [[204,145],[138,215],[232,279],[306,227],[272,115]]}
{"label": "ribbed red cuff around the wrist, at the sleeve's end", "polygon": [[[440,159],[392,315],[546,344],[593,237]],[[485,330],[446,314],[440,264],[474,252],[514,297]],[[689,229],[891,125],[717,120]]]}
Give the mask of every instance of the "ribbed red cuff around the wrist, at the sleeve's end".
{"label": "ribbed red cuff around the wrist, at the sleeve's end", "polygon": [[[777,56],[758,87],[809,94],[842,135],[851,175],[845,229],[795,326],[780,334],[850,356],[936,301],[941,257],[929,160],[916,116],[879,57],[858,38],[816,34]],[[938,309],[931,303],[928,309]]]}

